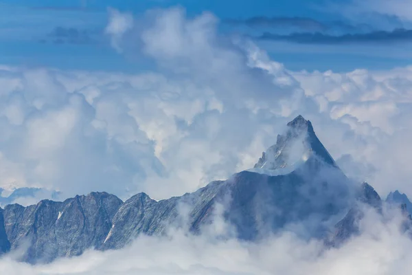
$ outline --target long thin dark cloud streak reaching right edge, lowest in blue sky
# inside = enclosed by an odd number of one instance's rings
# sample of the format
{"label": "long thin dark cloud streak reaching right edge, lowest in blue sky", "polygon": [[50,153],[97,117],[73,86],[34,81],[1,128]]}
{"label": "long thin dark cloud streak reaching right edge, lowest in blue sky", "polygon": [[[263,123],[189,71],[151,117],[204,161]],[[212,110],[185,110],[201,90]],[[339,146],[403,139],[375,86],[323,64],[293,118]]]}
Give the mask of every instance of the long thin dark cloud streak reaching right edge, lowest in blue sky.
{"label": "long thin dark cloud streak reaching right edge, lowest in blue sky", "polygon": [[321,32],[295,32],[286,35],[265,32],[257,36],[257,39],[301,44],[395,43],[412,41],[412,30],[396,29],[390,32],[375,31],[364,34],[343,34],[336,36],[323,34]]}

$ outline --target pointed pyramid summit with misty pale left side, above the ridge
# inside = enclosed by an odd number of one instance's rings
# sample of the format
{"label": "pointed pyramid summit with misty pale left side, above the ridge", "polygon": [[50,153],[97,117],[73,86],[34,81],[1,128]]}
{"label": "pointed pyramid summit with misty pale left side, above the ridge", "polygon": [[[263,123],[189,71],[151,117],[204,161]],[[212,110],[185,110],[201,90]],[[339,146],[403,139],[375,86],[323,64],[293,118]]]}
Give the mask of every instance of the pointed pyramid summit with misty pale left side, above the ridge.
{"label": "pointed pyramid summit with misty pale left side, above the ridge", "polygon": [[288,130],[277,136],[275,145],[262,154],[254,168],[278,170],[294,168],[306,162],[312,155],[317,155],[323,162],[336,166],[334,159],[321,144],[314,133],[312,123],[302,115],[288,122]]}

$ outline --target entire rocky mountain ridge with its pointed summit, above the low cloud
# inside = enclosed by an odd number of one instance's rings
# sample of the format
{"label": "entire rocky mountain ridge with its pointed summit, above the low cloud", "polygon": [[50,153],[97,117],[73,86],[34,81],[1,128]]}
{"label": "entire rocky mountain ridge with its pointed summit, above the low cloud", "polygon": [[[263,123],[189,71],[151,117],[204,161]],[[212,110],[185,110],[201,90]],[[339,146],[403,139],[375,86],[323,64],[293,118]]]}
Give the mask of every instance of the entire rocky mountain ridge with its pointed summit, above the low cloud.
{"label": "entire rocky mountain ridge with its pointed summit, above the low cloud", "polygon": [[63,202],[5,206],[0,251],[23,248],[23,261],[49,262],[90,248],[122,248],[139,234],[166,234],[170,227],[198,234],[216,214],[242,240],[286,229],[339,245],[356,234],[361,206],[379,211],[380,203],[369,184],[356,185],[345,177],[310,121],[299,115],[254,168],[181,197],[155,201],[140,193],[123,202],[92,192]]}

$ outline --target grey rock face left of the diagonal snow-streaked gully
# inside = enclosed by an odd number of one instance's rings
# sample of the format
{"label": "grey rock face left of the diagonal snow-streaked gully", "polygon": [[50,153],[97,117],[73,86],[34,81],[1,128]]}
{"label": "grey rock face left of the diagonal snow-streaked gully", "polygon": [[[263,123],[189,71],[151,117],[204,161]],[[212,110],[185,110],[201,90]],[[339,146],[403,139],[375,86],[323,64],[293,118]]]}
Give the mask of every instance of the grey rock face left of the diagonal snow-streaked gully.
{"label": "grey rock face left of the diagonal snow-streaked gully", "polygon": [[3,210],[3,224],[11,250],[27,248],[23,261],[48,262],[58,256],[80,255],[85,248],[99,249],[122,203],[114,195],[92,192],[26,208],[12,204]]}

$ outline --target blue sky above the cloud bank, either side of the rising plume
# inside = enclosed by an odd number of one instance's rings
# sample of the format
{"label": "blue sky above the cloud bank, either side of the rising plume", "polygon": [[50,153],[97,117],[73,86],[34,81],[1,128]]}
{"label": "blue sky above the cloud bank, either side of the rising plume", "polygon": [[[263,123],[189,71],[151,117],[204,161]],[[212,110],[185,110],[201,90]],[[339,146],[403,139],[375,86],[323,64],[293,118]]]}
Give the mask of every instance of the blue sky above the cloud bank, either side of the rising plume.
{"label": "blue sky above the cloud bank, either side of the rising plume", "polygon": [[[376,6],[379,3],[377,0]],[[345,72],[390,69],[412,61],[409,19],[359,8],[356,1],[3,0],[0,63],[144,70],[151,66],[149,61],[130,61],[109,46],[103,33],[107,8],[139,17],[146,10],[174,5],[183,6],[189,16],[212,12],[220,19],[222,35],[253,39],[288,69]],[[394,32],[398,29],[402,32]]]}

